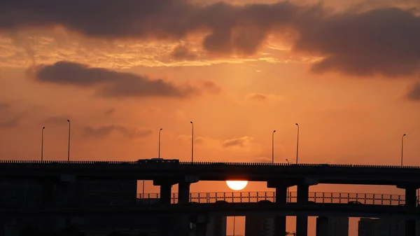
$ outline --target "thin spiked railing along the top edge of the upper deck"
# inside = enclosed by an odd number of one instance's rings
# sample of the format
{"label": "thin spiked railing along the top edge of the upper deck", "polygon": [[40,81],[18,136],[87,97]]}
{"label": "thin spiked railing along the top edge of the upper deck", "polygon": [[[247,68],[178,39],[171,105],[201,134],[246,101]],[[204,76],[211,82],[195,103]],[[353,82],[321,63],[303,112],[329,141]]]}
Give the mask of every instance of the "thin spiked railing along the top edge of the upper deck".
{"label": "thin spiked railing along the top edge of the upper deck", "polygon": [[[59,165],[148,165],[139,164],[137,160],[120,161],[120,160],[0,160],[0,164],[59,164]],[[246,165],[246,166],[290,166],[290,167],[358,167],[358,168],[385,168],[385,169],[420,169],[419,166],[400,166],[400,165],[353,165],[353,164],[288,164],[288,163],[271,163],[271,162],[179,162],[180,165]],[[160,163],[159,165],[174,165],[173,163]]]}

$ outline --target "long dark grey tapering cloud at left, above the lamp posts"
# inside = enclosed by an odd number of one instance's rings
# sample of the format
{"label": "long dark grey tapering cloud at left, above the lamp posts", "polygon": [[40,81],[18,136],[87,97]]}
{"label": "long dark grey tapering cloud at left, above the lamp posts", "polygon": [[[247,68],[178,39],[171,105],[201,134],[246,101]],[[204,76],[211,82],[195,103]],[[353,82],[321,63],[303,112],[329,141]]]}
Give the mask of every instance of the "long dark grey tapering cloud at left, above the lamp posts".
{"label": "long dark grey tapering cloud at left, above the lamp posts", "polygon": [[94,88],[102,97],[190,97],[201,90],[190,85],[174,85],[137,74],[87,67],[73,62],[56,62],[29,70],[36,81]]}

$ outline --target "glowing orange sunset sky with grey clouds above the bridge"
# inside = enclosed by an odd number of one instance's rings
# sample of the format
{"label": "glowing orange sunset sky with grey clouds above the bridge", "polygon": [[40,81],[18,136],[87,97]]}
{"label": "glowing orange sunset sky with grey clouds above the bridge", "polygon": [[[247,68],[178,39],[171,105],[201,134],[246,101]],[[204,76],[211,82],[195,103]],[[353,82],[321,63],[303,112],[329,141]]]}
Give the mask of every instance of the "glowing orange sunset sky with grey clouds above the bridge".
{"label": "glowing orange sunset sky with grey clouds above the bridge", "polygon": [[[0,155],[420,165],[417,0],[1,0]],[[176,190],[176,189],[175,189]],[[192,191],[231,191],[196,183]],[[272,190],[250,183],[244,191]],[[148,186],[148,191],[157,188]],[[395,193],[381,186],[310,191]]]}

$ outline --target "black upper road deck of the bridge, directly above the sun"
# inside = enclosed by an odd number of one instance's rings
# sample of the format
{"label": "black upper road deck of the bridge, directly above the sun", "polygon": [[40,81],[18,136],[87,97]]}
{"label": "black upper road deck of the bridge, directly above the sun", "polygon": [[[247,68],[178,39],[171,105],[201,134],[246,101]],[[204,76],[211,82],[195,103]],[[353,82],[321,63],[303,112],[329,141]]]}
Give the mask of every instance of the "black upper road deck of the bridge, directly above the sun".
{"label": "black upper road deck of the bridge, directly above the sun", "polygon": [[34,178],[74,174],[92,179],[183,179],[200,181],[246,179],[316,179],[317,183],[390,185],[420,184],[420,167],[381,165],[323,165],[248,162],[180,162],[138,164],[100,161],[10,161],[0,160],[0,178]]}

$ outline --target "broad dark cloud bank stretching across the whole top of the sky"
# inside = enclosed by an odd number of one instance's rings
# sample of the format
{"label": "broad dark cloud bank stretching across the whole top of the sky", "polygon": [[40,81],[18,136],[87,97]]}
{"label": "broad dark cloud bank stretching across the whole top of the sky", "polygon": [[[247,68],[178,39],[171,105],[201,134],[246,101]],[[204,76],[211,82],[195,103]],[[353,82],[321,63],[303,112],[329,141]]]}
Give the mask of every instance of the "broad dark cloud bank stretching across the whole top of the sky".
{"label": "broad dark cloud bank stretching across the whole top of the sky", "polygon": [[[287,31],[295,33],[294,50],[323,57],[312,68],[318,73],[407,76],[419,71],[420,18],[402,8],[332,13],[320,4],[297,6],[288,1],[244,6],[223,2],[198,6],[183,0],[0,1],[0,30],[52,25],[102,39],[179,40],[190,33],[208,32],[202,46],[216,55],[251,55],[269,33]],[[290,39],[290,34],[285,35]],[[192,57],[182,46],[172,56]],[[83,81],[79,82],[99,83],[97,78]],[[118,91],[133,92],[131,88]]]}

